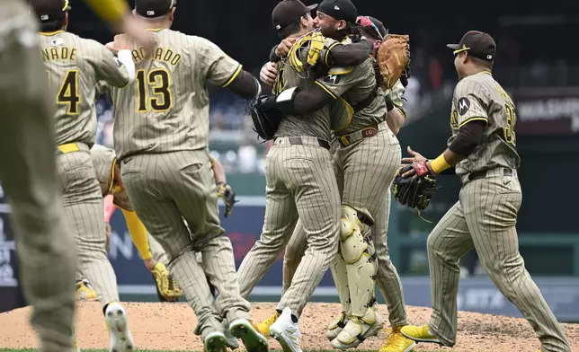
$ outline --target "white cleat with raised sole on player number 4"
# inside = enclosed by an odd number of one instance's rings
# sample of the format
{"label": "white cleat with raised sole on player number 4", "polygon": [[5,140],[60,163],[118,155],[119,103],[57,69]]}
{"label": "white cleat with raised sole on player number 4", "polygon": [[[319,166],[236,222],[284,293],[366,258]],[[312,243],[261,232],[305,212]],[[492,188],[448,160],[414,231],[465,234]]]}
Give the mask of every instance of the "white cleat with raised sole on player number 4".
{"label": "white cleat with raised sole on player number 4", "polygon": [[104,319],[111,334],[110,352],[129,352],[135,348],[133,337],[130,335],[127,312],[123,306],[113,302],[107,306]]}

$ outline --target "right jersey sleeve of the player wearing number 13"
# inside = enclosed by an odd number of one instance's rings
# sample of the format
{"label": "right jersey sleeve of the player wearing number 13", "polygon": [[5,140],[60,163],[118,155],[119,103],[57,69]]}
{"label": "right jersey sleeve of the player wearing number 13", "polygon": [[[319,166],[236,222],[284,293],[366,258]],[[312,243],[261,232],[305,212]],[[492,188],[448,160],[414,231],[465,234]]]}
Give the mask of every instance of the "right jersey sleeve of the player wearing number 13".
{"label": "right jersey sleeve of the player wearing number 13", "polygon": [[228,57],[221,48],[209,40],[192,37],[195,41],[195,60],[201,78],[215,84],[227,87],[241,72],[242,66],[233,58]]}

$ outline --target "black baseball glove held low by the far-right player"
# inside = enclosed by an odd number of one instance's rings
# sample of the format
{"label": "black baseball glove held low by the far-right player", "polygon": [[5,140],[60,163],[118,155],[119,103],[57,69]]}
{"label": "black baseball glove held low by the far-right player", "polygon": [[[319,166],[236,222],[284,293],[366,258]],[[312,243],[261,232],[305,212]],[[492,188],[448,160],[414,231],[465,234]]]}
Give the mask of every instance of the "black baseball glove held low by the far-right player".
{"label": "black baseball glove held low by the far-right player", "polygon": [[[403,178],[405,172],[414,169],[414,177]],[[394,198],[403,206],[424,210],[436,190],[436,179],[428,171],[425,161],[400,168],[393,183]]]}

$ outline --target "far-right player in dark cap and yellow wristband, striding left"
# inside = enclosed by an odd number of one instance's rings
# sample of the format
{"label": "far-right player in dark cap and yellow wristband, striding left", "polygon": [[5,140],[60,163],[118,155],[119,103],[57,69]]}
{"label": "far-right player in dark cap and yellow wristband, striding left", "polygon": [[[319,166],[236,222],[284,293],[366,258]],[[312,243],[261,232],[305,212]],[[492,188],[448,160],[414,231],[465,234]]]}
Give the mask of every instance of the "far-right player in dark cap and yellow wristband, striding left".
{"label": "far-right player in dark cap and yellow wristband, striding left", "polygon": [[[457,339],[459,259],[473,247],[494,285],[522,312],[541,342],[540,351],[571,351],[564,331],[535,285],[519,253],[515,224],[521,207],[515,106],[491,74],[495,44],[484,32],[468,31],[454,50],[459,75],[450,114],[448,149],[426,160],[408,147],[413,163],[403,178],[437,175],[456,165],[459,201],[428,236],[432,317],[405,326],[408,339],[453,346]],[[417,175],[416,175],[417,174]]]}

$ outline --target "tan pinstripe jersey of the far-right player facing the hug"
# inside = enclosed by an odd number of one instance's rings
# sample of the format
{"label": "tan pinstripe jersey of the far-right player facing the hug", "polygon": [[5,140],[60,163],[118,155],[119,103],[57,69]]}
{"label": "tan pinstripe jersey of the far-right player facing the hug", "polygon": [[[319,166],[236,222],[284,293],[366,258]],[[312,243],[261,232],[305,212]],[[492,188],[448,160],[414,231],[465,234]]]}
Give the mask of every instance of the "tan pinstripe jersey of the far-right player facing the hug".
{"label": "tan pinstripe jersey of the far-right player facing the hug", "polygon": [[468,121],[486,122],[482,142],[468,158],[460,162],[459,176],[495,167],[517,169],[521,158],[516,150],[515,124],[517,115],[511,97],[504,92],[489,72],[470,75],[460,80],[454,90],[450,126],[452,136]]}

